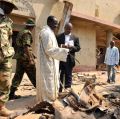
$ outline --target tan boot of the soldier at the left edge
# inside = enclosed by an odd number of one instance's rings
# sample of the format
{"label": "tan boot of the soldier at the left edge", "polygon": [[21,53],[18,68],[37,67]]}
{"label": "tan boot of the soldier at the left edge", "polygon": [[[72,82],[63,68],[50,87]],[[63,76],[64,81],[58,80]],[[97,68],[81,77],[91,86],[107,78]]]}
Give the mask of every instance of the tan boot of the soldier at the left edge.
{"label": "tan boot of the soldier at the left edge", "polygon": [[0,116],[8,117],[13,113],[14,111],[8,110],[4,105],[0,105]]}

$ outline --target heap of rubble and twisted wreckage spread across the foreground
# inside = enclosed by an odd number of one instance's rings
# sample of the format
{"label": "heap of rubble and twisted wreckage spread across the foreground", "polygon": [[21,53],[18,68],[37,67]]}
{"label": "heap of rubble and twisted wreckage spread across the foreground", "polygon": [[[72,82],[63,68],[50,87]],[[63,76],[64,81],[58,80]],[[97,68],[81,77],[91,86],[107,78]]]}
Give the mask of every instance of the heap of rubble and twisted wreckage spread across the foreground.
{"label": "heap of rubble and twisted wreckage spread across the foreground", "polygon": [[72,88],[53,104],[38,103],[12,119],[120,119],[120,86],[100,81],[94,73],[74,73]]}

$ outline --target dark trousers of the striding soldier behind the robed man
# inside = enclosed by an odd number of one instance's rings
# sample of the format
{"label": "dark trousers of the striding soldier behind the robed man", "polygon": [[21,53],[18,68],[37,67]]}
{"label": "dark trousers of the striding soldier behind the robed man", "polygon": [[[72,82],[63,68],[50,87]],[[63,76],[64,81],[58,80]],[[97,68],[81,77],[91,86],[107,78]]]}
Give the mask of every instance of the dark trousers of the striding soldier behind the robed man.
{"label": "dark trousers of the striding soldier behind the robed man", "polygon": [[24,73],[27,74],[31,83],[36,87],[36,67],[35,65],[29,65],[28,61],[17,60],[16,72],[12,80],[11,91],[15,92],[20,85]]}

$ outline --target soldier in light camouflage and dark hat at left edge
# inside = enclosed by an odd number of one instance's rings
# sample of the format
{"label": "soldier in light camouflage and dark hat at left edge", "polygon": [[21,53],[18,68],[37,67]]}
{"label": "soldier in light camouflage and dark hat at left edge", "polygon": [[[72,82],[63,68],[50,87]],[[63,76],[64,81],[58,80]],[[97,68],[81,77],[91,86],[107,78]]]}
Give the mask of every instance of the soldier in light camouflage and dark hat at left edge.
{"label": "soldier in light camouflage and dark hat at left edge", "polygon": [[10,0],[0,0],[0,115],[9,116],[13,111],[5,108],[11,86],[12,57],[14,49],[10,45],[12,36],[12,20],[8,15],[17,7]]}

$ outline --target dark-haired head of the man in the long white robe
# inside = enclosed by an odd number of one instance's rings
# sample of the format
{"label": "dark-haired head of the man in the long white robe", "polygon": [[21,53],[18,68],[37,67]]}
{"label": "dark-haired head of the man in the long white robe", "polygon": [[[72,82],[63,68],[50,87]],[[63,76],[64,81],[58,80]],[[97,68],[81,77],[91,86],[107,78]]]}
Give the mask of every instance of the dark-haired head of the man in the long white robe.
{"label": "dark-haired head of the man in the long white robe", "polygon": [[54,31],[58,27],[58,21],[55,16],[49,16],[47,18],[47,25]]}

